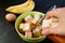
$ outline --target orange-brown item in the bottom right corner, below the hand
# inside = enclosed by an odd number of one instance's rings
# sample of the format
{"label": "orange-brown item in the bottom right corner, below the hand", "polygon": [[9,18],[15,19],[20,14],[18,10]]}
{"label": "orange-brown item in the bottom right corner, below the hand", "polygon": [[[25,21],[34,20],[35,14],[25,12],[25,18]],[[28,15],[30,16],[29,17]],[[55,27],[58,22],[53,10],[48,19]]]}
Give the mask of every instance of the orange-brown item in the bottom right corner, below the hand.
{"label": "orange-brown item in the bottom right corner, below the hand", "polygon": [[50,40],[52,40],[54,43],[65,43],[65,37],[61,35],[48,35]]}

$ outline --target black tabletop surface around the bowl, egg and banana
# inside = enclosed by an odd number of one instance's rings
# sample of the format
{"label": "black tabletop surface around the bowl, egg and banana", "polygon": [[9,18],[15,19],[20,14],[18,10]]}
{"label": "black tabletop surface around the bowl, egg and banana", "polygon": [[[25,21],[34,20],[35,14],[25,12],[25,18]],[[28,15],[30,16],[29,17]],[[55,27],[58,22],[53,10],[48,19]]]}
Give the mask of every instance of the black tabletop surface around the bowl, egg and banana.
{"label": "black tabletop surface around the bowl, egg and banana", "polygon": [[[25,2],[26,0],[0,0],[0,43],[26,43],[14,29],[14,23],[5,20],[5,8]],[[56,4],[57,8],[65,6],[65,0],[34,0],[36,3],[35,11],[46,13],[51,5]],[[49,39],[40,43],[52,43]]]}

